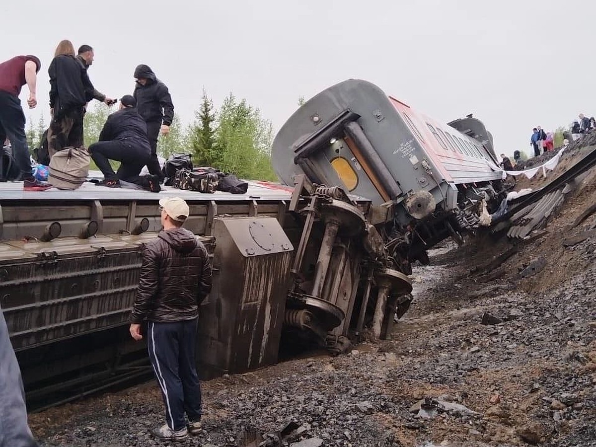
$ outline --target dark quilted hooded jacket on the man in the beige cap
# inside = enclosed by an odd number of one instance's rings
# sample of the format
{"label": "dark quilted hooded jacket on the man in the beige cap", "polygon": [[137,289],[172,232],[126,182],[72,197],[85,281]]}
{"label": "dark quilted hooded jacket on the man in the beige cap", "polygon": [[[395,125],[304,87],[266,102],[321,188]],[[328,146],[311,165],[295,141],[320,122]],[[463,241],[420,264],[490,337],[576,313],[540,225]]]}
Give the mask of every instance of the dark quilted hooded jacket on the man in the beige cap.
{"label": "dark quilted hooded jacket on the man in the beige cap", "polygon": [[185,228],[160,231],[145,244],[131,322],[194,319],[211,290],[209,254]]}

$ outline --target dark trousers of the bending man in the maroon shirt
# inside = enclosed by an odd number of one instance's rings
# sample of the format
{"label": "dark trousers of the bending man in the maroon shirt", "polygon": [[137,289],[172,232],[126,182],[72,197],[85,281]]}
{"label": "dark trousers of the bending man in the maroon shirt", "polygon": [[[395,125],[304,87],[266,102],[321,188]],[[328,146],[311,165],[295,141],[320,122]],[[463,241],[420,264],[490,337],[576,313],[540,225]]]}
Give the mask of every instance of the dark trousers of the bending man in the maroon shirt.
{"label": "dark trousers of the bending man in the maroon shirt", "polygon": [[[4,91],[0,91],[0,127],[3,129],[4,139],[10,139],[14,160],[23,172],[23,178],[32,177],[31,159],[25,136],[25,114],[21,101]],[[0,147],[4,146],[4,139],[0,141]]]}

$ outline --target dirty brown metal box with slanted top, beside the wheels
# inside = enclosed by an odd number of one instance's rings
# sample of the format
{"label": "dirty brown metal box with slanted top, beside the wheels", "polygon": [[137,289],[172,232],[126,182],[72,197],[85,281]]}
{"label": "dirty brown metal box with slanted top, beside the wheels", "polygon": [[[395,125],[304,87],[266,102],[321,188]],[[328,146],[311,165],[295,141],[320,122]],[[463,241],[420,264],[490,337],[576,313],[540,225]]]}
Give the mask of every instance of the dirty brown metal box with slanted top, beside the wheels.
{"label": "dirty brown metal box with slanted top, beside the wheels", "polygon": [[277,219],[215,218],[214,287],[201,306],[200,375],[277,362],[293,246]]}

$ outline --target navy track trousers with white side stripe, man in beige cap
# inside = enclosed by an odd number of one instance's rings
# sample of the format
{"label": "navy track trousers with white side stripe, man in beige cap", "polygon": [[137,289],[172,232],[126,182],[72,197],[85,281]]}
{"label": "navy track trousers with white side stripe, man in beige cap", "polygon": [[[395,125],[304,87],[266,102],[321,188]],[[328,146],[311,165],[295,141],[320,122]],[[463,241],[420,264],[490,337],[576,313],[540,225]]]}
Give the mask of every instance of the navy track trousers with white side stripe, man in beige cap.
{"label": "navy track trousers with white side stripe, man in beige cap", "polygon": [[201,384],[195,369],[198,318],[171,323],[149,322],[147,347],[157,383],[162,389],[166,423],[172,430],[201,420]]}

